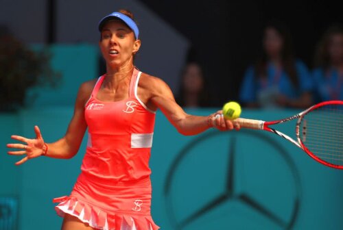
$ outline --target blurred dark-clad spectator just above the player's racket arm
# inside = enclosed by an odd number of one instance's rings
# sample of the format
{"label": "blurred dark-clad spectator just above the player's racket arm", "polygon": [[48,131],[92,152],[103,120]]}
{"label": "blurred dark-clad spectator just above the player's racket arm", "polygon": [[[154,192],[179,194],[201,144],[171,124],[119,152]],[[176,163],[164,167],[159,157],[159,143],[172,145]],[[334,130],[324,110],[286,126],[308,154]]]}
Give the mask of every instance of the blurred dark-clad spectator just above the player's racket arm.
{"label": "blurred dark-clad spectator just above the player's racket arm", "polygon": [[182,107],[209,107],[209,93],[202,68],[197,62],[187,63],[182,70],[176,102]]}

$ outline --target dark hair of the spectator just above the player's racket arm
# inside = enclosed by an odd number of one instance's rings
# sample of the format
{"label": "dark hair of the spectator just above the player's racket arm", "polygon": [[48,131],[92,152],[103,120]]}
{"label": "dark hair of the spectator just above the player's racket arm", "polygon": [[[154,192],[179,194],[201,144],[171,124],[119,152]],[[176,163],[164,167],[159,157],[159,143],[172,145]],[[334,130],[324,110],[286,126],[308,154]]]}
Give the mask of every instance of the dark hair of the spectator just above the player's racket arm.
{"label": "dark hair of the spectator just above the player's racket arm", "polygon": [[186,71],[188,66],[195,64],[200,68],[200,72],[202,75],[202,89],[199,92],[199,97],[198,97],[198,105],[199,107],[209,107],[210,106],[210,98],[209,98],[209,92],[206,88],[208,84],[206,84],[206,78],[204,77],[204,71],[202,70],[202,67],[198,62],[187,62],[185,66],[182,68],[181,74],[180,74],[180,88],[179,88],[179,93],[178,97],[176,98],[176,102],[180,106],[185,106],[185,93],[186,93],[186,88],[185,85],[183,84],[183,79],[185,77]]}

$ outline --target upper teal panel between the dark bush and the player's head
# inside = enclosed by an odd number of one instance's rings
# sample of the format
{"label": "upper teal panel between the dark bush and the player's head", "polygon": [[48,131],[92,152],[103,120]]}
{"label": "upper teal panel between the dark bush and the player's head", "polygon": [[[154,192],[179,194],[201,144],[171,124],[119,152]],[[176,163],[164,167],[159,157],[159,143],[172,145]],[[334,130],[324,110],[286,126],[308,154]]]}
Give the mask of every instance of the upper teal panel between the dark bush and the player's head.
{"label": "upper teal panel between the dark bush and the player's head", "polygon": [[78,88],[82,82],[98,75],[98,47],[93,44],[54,44],[43,47],[32,45],[33,49],[47,49],[51,53],[51,66],[62,75],[56,88],[35,87],[27,93],[29,107],[73,106]]}

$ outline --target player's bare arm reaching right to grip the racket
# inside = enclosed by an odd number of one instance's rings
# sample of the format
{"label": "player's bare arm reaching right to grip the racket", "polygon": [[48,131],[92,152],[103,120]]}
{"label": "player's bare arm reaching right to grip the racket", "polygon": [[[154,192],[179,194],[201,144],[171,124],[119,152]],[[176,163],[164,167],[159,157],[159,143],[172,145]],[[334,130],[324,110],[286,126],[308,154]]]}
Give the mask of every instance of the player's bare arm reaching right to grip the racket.
{"label": "player's bare arm reaching right to grip the racket", "polygon": [[[222,111],[218,111],[209,116],[193,116],[187,114],[176,103],[173,93],[164,81],[151,76],[145,76],[143,79],[145,95],[149,95],[147,107],[152,110],[159,108],[169,122],[183,135],[196,135],[210,127],[216,127],[221,131],[233,129],[233,122],[224,119],[223,116],[215,116],[215,114],[222,114]],[[239,129],[239,125],[235,124],[235,128]]]}

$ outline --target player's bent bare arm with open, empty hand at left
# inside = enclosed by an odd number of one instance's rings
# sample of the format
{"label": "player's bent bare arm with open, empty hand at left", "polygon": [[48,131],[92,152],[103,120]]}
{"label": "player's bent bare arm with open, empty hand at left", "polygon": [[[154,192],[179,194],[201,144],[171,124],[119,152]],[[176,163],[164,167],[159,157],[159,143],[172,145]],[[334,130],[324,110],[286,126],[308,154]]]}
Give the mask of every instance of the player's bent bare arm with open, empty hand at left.
{"label": "player's bent bare arm with open, empty hand at left", "polygon": [[14,140],[26,142],[26,144],[8,144],[9,148],[22,149],[21,151],[9,151],[10,155],[26,155],[16,164],[23,164],[27,159],[46,154],[47,157],[69,159],[73,157],[80,148],[87,125],[84,118],[84,105],[91,96],[94,81],[87,81],[80,86],[75,102],[73,118],[64,137],[53,143],[45,143],[38,127],[34,127],[35,139],[22,136],[12,136]]}

